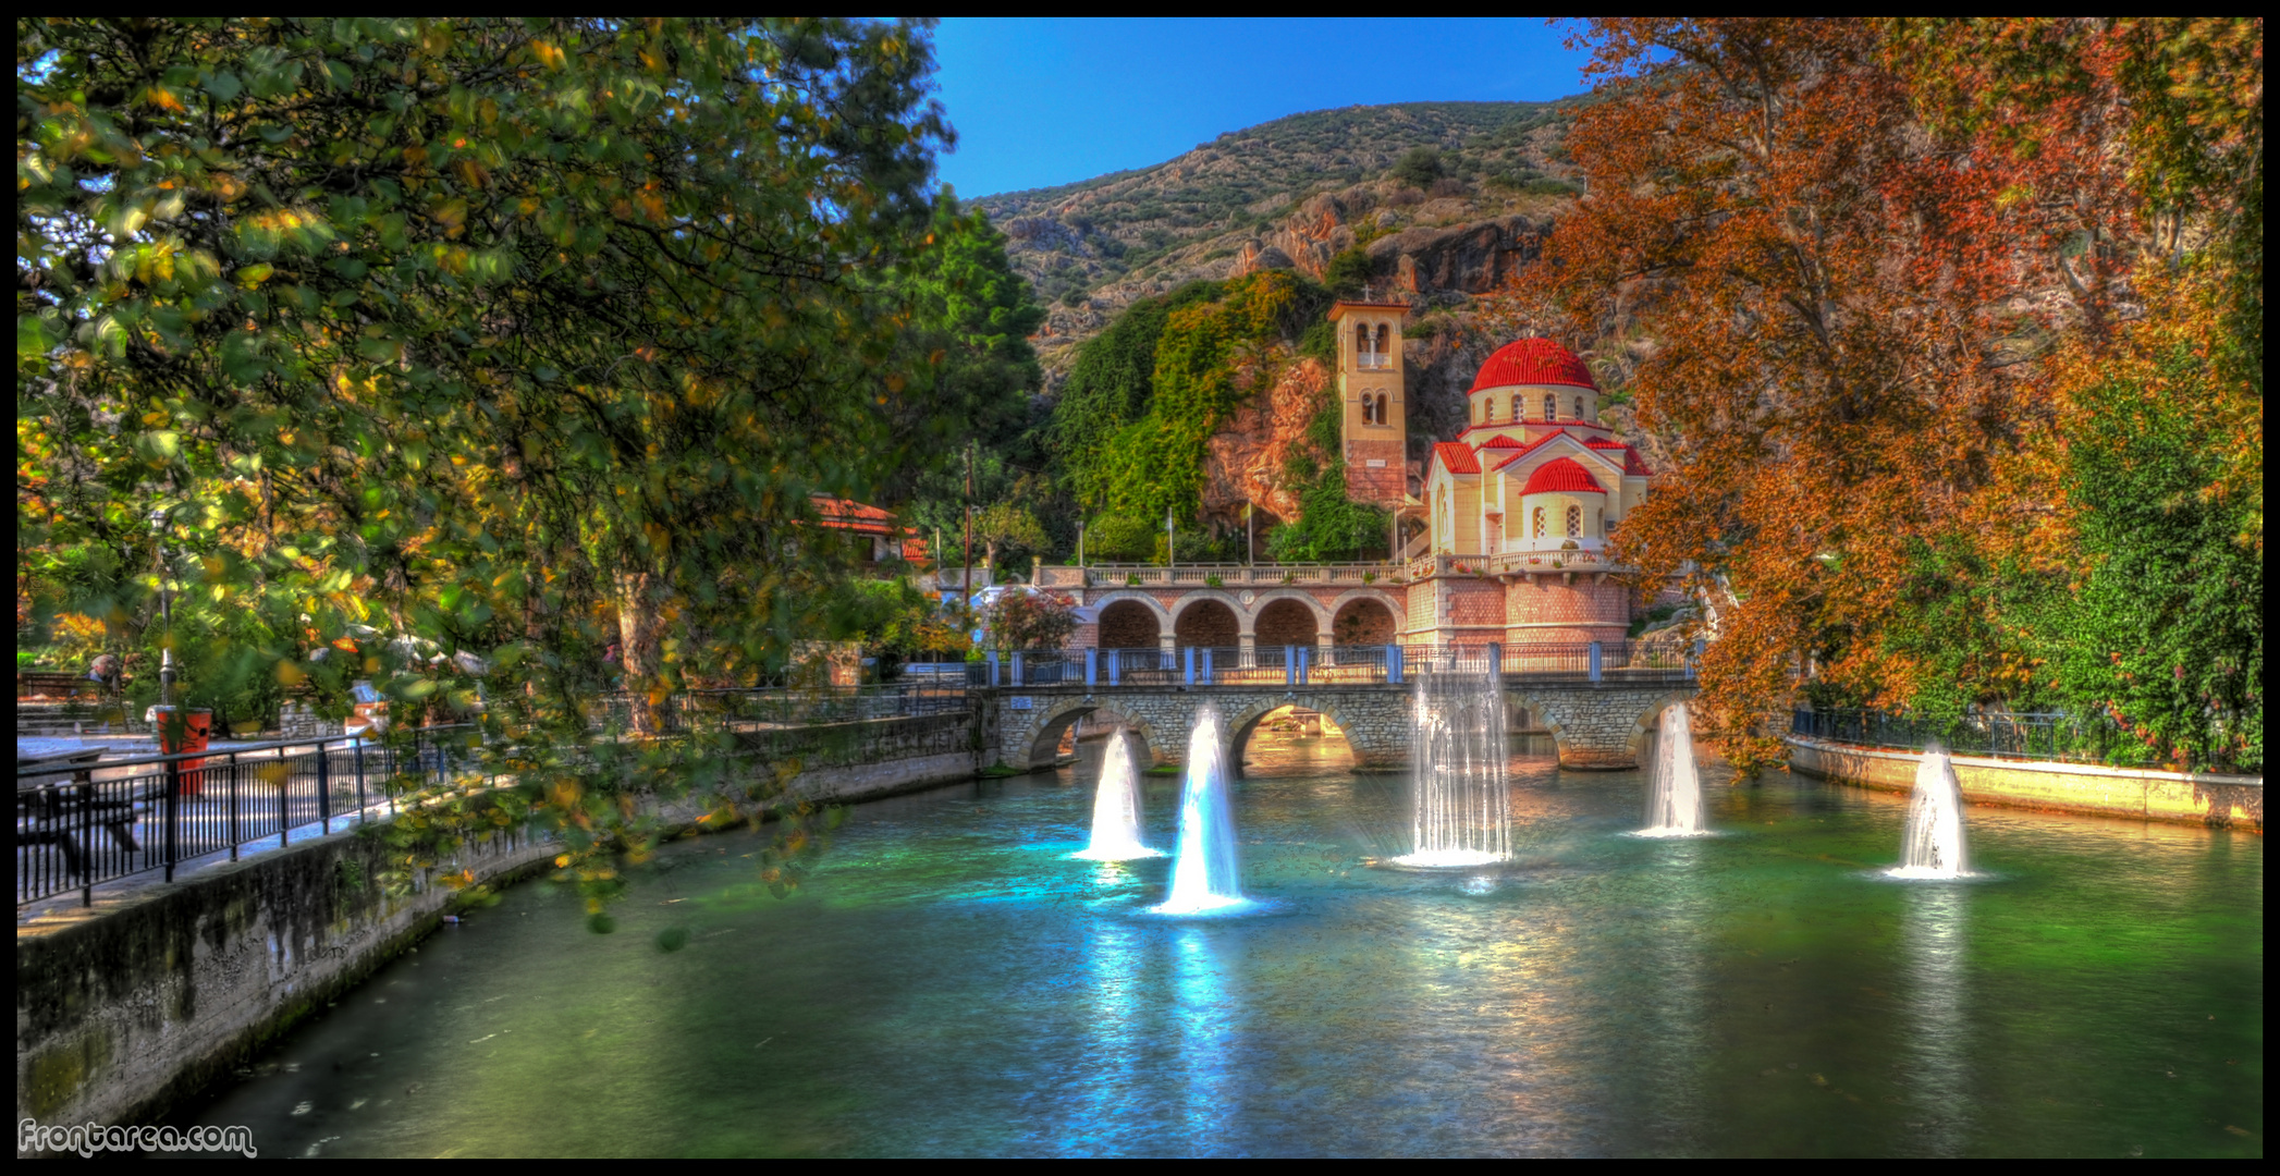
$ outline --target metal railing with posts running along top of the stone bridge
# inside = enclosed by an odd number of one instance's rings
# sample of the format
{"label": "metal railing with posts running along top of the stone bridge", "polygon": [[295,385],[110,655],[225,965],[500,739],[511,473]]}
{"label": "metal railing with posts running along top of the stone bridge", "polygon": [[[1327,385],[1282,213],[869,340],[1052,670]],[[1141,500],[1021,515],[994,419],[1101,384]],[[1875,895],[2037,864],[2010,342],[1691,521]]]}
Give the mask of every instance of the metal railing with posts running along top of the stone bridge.
{"label": "metal railing with posts running along top of the stone bridge", "polygon": [[994,652],[976,686],[1377,686],[1420,675],[1498,675],[1516,681],[1685,684],[1699,650],[1671,640],[1521,645],[1179,645],[1145,650]]}

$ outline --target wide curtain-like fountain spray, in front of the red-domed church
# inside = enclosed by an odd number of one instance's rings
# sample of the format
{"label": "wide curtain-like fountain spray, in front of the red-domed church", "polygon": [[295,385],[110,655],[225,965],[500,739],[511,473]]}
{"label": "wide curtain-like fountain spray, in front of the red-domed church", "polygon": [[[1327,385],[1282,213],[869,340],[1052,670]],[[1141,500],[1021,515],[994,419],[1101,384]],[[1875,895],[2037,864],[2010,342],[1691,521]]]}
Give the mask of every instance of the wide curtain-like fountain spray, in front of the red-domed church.
{"label": "wide curtain-like fountain spray, in front of the red-domed church", "polygon": [[1395,866],[1464,868],[1512,857],[1505,691],[1498,675],[1418,675],[1416,848]]}

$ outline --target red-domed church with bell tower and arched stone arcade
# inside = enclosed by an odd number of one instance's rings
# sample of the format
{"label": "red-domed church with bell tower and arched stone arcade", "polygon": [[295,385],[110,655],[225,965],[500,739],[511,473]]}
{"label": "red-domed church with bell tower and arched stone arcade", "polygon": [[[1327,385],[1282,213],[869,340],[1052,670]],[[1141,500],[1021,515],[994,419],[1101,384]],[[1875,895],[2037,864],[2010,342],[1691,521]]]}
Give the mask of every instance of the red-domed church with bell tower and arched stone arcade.
{"label": "red-domed church with bell tower and arched stone arcade", "polygon": [[[1630,588],[1607,542],[1646,501],[1651,469],[1598,422],[1598,385],[1553,340],[1480,365],[1468,419],[1409,458],[1407,303],[1341,301],[1341,447],[1354,501],[1414,538],[1386,563],[1056,565],[1033,583],[1078,606],[1076,647],[1617,645]],[[1423,522],[1423,533],[1418,533]],[[951,572],[955,574],[955,572]]]}

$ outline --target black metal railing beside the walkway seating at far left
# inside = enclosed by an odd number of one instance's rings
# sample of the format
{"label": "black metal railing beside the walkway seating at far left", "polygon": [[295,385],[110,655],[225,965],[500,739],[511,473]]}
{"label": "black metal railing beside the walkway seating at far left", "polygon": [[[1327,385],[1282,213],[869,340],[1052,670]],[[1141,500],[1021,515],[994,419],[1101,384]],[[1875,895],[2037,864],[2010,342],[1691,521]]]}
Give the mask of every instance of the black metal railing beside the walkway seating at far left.
{"label": "black metal railing beside the walkway seating at far left", "polygon": [[[408,741],[408,743],[406,743]],[[276,839],[337,816],[365,818],[406,786],[477,763],[474,727],[399,741],[287,738],[103,761],[100,750],[16,763],[16,905]],[[406,779],[408,777],[408,779]],[[413,784],[417,782],[417,784]]]}

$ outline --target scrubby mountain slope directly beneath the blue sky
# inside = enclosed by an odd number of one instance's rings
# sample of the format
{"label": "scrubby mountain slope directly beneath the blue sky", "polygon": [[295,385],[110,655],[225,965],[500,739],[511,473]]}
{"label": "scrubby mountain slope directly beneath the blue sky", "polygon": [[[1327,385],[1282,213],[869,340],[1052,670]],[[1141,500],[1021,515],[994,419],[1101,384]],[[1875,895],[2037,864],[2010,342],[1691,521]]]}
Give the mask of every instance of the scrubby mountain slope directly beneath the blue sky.
{"label": "scrubby mountain slope directly beneath the blue sky", "polygon": [[[1065,371],[1133,299],[1254,269],[1322,278],[1357,244],[1373,283],[1423,303],[1493,289],[1573,194],[1562,139],[1580,100],[1293,114],[1149,169],[976,205],[1051,305],[1037,346]],[[1418,148],[1436,157],[1398,169]]]}

